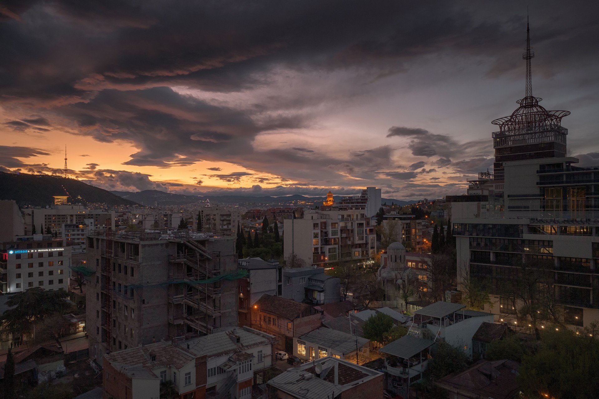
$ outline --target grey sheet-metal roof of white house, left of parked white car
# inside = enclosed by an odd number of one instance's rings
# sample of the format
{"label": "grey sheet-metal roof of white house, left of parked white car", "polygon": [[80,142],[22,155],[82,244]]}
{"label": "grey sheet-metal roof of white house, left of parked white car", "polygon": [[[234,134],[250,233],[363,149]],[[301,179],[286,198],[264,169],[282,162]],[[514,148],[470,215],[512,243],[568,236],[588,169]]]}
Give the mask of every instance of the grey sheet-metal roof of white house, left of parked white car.
{"label": "grey sheet-metal roof of white house, left of parked white car", "polygon": [[177,346],[195,357],[214,357],[243,352],[255,346],[269,345],[273,339],[273,336],[253,330],[253,328],[235,327],[204,337],[186,340],[177,343]]}

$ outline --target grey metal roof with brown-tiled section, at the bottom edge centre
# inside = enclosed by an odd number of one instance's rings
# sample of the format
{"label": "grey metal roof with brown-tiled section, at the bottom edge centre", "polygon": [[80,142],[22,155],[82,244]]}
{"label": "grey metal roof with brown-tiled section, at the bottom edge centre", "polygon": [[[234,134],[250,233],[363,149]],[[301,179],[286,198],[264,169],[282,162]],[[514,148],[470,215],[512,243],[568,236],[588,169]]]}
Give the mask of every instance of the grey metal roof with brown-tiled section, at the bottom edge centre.
{"label": "grey metal roof with brown-tiled section, at the bottom edge centre", "polygon": [[[299,367],[289,368],[269,380],[268,385],[280,389],[292,397],[327,399],[331,395],[336,397],[347,389],[382,375],[379,371],[367,367],[337,358],[325,357]],[[369,392],[362,393],[368,395]],[[380,392],[372,393],[380,395]]]}

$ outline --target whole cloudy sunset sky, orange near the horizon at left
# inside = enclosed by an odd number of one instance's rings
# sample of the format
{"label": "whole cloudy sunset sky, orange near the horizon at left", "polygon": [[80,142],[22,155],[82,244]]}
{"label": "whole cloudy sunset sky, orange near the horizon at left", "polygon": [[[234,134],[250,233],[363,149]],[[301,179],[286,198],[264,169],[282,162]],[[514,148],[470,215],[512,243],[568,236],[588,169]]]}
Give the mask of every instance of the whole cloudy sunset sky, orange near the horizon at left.
{"label": "whole cloudy sunset sky, orange near the horizon at left", "polygon": [[[599,164],[599,7],[530,1],[533,93]],[[109,190],[464,192],[524,96],[521,1],[0,0],[0,170]]]}

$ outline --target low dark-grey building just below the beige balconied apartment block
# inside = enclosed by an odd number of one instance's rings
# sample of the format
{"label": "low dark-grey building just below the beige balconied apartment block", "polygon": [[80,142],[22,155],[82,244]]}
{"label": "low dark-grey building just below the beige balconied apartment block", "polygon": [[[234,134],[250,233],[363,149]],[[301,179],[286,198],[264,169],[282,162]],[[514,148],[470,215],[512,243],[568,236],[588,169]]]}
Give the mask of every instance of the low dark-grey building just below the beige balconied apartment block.
{"label": "low dark-grey building just below the beige balconied apartment block", "polygon": [[341,279],[325,275],[322,267],[283,269],[283,298],[313,305],[341,300]]}

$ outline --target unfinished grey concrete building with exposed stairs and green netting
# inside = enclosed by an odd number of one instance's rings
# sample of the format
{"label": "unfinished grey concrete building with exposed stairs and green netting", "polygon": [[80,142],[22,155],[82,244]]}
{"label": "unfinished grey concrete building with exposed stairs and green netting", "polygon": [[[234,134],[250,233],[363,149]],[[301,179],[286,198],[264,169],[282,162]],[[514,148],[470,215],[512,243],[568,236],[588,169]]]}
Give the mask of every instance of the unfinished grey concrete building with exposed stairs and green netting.
{"label": "unfinished grey concrete building with exposed stairs and green netting", "polygon": [[90,357],[237,325],[232,237],[93,230],[87,237]]}

